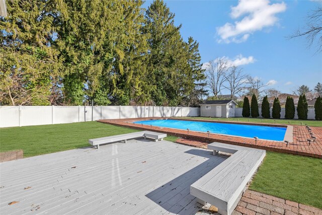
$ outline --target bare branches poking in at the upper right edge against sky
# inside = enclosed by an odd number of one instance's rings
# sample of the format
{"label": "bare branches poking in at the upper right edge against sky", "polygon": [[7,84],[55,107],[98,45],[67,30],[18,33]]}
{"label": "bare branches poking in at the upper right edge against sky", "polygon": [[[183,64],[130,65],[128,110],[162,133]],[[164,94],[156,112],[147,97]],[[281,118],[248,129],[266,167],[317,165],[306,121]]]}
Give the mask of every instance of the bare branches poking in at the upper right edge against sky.
{"label": "bare branches poking in at the upper right edge against sky", "polygon": [[322,51],[322,7],[317,7],[312,14],[308,15],[304,31],[297,30],[289,38],[306,36],[308,47],[311,47],[317,38],[317,52]]}

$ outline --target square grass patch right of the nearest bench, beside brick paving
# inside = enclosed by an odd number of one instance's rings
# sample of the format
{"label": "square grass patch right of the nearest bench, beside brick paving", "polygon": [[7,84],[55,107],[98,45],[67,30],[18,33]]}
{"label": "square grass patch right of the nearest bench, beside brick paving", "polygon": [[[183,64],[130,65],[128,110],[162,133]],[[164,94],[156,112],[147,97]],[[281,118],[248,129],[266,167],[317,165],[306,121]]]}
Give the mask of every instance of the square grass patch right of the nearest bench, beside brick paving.
{"label": "square grass patch right of the nearest bench, beside brick paving", "polygon": [[250,189],[322,209],[322,159],[266,152]]}

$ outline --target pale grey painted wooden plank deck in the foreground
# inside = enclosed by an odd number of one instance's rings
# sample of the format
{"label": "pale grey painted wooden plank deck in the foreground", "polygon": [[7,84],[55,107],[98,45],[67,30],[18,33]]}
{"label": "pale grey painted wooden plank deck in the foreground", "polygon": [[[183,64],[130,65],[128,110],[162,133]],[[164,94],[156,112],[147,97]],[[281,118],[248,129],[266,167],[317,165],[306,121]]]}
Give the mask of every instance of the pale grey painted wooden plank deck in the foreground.
{"label": "pale grey painted wooden plank deck in the foreground", "polygon": [[0,213],[201,214],[190,185],[225,159],[165,140],[133,139],[4,162]]}

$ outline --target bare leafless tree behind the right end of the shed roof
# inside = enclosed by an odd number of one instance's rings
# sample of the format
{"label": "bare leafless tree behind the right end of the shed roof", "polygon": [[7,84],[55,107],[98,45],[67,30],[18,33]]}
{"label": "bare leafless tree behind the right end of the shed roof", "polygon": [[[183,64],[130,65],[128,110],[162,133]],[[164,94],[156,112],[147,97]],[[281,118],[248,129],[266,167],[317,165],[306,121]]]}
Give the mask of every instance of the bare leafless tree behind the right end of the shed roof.
{"label": "bare leafless tree behind the right end of the shed roof", "polygon": [[224,74],[224,77],[227,85],[223,85],[223,87],[230,91],[230,99],[248,89],[246,85],[248,83],[248,75],[244,74],[243,70],[237,66],[231,66],[229,71]]}

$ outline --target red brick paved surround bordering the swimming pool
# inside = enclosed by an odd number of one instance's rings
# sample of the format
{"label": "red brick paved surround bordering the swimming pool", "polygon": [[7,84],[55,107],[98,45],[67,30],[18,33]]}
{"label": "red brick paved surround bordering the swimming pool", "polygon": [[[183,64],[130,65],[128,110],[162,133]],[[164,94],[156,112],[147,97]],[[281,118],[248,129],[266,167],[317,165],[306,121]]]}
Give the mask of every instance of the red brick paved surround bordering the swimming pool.
{"label": "red brick paved surround bordering the swimming pool", "polygon": [[[119,125],[123,127],[131,127],[141,130],[150,130],[163,132],[174,136],[184,137],[185,139],[194,139],[202,142],[223,142],[225,144],[232,144],[237,146],[245,146],[256,149],[263,149],[274,152],[281,153],[289,153],[295,155],[303,155],[310,156],[315,158],[322,158],[322,127],[312,127],[311,132],[314,133],[316,139],[314,142],[311,142],[309,145],[307,139],[310,139],[310,135],[307,132],[305,126],[293,125],[293,142],[290,142],[288,146],[286,146],[284,141],[275,141],[275,140],[266,140],[266,139],[258,139],[256,144],[253,138],[247,137],[239,137],[239,136],[228,136],[216,133],[206,133],[206,132],[198,132],[198,131],[187,131],[182,129],[175,128],[167,128],[167,127],[159,127],[159,126],[151,126],[144,124],[134,124],[134,121],[139,120],[149,120],[149,119],[166,119],[161,117],[148,117],[148,118],[130,118],[130,119],[102,119],[98,120],[99,122],[104,122],[113,125]],[[167,118],[169,119],[169,118]],[[178,119],[178,118],[175,118]],[[192,120],[191,120],[192,121]],[[194,121],[210,121],[212,120],[194,120]],[[230,123],[229,121],[225,121],[225,123]],[[236,123],[236,122],[231,122]],[[245,123],[242,124],[252,124],[252,125],[272,125],[265,123]],[[274,126],[287,126],[287,125],[279,125],[273,124]]]}

